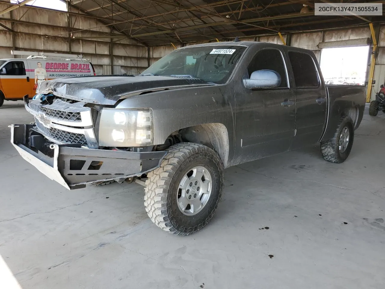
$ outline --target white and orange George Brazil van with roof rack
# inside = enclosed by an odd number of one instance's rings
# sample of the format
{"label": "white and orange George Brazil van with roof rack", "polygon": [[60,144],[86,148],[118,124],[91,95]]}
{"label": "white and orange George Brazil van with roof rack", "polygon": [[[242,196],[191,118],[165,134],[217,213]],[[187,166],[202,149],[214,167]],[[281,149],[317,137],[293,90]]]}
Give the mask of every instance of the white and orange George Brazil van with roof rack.
{"label": "white and orange George Brazil van with roof rack", "polygon": [[13,55],[30,55],[25,59],[0,59],[0,106],[4,100],[20,100],[35,95],[42,81],[63,77],[95,76],[89,59],[82,55],[11,51]]}

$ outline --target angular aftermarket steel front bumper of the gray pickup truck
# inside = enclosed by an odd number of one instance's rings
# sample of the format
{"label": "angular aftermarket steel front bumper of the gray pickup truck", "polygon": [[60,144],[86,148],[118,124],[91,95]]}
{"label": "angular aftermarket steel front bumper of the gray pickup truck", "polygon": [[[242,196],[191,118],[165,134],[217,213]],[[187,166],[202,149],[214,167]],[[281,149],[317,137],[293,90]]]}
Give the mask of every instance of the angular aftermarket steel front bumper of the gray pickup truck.
{"label": "angular aftermarket steel front bumper of the gray pickup truck", "polygon": [[12,124],[11,143],[24,160],[69,190],[84,188],[95,181],[140,176],[159,167],[167,154],[166,151],[112,151],[60,145],[37,134],[32,127]]}

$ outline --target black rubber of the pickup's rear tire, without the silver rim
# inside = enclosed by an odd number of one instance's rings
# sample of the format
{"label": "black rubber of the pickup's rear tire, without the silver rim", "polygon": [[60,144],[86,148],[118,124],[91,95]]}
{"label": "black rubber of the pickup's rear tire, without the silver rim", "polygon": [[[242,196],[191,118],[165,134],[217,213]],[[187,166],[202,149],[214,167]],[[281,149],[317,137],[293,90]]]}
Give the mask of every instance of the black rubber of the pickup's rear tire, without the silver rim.
{"label": "black rubber of the pickup's rear tire, without the silver rim", "polygon": [[[340,150],[340,136],[342,131],[347,128],[349,130],[349,140],[346,149],[341,152]],[[321,141],[321,153],[326,161],[332,163],[343,163],[349,156],[352,150],[354,139],[354,124],[349,116],[342,116],[340,118],[340,124],[338,124],[336,132],[332,139],[328,141]]]}

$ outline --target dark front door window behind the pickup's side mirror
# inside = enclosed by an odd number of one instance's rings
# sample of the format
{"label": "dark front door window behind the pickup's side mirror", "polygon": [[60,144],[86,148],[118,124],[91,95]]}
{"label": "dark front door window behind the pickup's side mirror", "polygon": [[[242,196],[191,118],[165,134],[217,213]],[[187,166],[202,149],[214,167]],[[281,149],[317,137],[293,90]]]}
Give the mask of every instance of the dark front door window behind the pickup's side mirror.
{"label": "dark front door window behind the pickup's side mirror", "polygon": [[270,69],[278,72],[281,76],[281,85],[279,87],[288,87],[285,64],[279,50],[263,49],[257,52],[247,67],[249,77],[254,71],[261,69]]}

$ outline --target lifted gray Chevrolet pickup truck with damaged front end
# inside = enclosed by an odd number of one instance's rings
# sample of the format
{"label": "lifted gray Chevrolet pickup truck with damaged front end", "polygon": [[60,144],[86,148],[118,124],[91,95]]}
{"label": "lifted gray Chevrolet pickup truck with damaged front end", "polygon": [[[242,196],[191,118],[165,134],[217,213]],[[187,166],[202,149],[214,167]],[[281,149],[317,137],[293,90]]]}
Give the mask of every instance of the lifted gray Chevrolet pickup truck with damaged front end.
{"label": "lifted gray Chevrolet pickup truck with damaged front end", "polygon": [[10,127],[25,160],[68,189],[141,182],[151,220],[189,235],[213,217],[224,168],[315,143],[345,161],[365,95],[325,86],[309,50],[219,42],[174,50],[136,77],[42,82],[24,101],[35,123]]}

